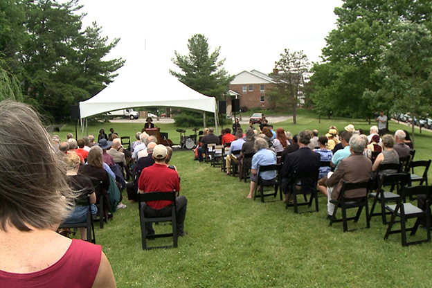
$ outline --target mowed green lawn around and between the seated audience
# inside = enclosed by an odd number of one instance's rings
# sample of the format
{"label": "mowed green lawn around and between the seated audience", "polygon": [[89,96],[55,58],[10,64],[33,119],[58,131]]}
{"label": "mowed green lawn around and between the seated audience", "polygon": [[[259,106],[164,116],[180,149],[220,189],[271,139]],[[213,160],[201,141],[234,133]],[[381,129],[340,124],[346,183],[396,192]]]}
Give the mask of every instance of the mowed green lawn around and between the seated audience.
{"label": "mowed green lawn around and between the seated audience", "polygon": [[[370,127],[365,121],[346,118],[318,123],[307,111],[300,113],[298,125],[289,120],[276,123],[275,128],[293,134],[316,128],[324,134],[330,125],[342,130],[352,123],[366,132]],[[114,127],[120,136],[131,138],[142,128],[103,126],[105,131]],[[170,138],[177,137],[173,141],[178,143],[177,127],[159,127]],[[399,127],[404,125],[390,123],[392,132]],[[89,133],[97,134],[98,128],[89,127]],[[62,129],[62,139],[67,132],[74,133],[75,128]],[[415,159],[431,158],[431,139],[429,132],[416,134]],[[177,249],[143,251],[138,207],[127,200],[127,208],[118,210],[105,228],[96,228],[96,241],[107,254],[118,287],[431,287],[432,244],[402,247],[400,235],[384,241],[386,226],[380,217],[372,218],[370,229],[352,233],[343,233],[341,223],[328,227],[325,197],[319,198],[318,213],[300,215],[292,208],[285,210],[278,198],[264,204],[248,200],[249,181],[240,182],[220,168],[192,159],[190,150],[174,152],[172,159],[181,177],[180,192],[188,198],[185,230],[189,235],[179,238]],[[126,192],[123,197],[127,198]],[[365,225],[363,211],[359,223],[349,223],[348,228]],[[423,230],[417,234],[425,236]]]}

